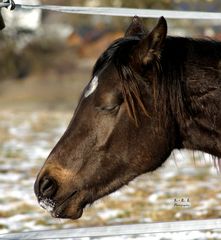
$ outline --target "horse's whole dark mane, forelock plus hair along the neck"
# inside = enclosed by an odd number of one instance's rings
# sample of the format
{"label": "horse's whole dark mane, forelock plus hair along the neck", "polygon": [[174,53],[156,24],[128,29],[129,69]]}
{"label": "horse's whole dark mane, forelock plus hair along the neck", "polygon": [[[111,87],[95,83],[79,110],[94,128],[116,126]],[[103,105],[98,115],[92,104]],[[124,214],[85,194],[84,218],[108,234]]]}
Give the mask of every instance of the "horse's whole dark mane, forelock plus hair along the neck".
{"label": "horse's whole dark mane, forelock plus hair along the neck", "polygon": [[[220,44],[209,40],[167,37],[160,58],[155,59],[151,66],[148,66],[153,71],[152,79],[148,80],[145,75],[141,76],[140,73],[137,73],[131,65],[132,51],[140,40],[139,36],[135,36],[121,38],[113,42],[97,60],[93,75],[96,75],[109,63],[114,64],[120,76],[128,114],[136,125],[139,125],[138,106],[146,116],[151,117],[151,112],[146,109],[145,99],[141,94],[143,90],[139,88],[138,82],[140,80],[151,82],[148,87],[152,85],[153,102],[155,110],[158,111],[159,126],[167,122],[168,113],[172,116],[175,114],[176,121],[182,121],[185,124],[193,111],[184,76],[184,68],[188,64],[186,62],[187,55],[190,54],[188,51],[192,51],[194,48],[199,53],[208,51],[208,54],[204,52],[206,56],[211,52],[216,56],[215,50],[220,48]],[[219,158],[214,157],[214,164],[221,171],[221,160]]]}

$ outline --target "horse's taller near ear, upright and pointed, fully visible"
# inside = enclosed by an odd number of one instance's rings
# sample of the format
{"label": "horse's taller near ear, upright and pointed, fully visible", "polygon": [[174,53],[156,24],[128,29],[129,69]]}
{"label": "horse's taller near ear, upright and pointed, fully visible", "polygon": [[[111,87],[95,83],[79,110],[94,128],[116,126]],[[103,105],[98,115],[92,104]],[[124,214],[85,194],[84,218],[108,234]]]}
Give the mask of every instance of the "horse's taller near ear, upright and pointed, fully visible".
{"label": "horse's taller near ear, upright and pointed, fully visible", "polygon": [[138,44],[138,56],[142,64],[146,65],[154,59],[159,59],[167,36],[167,22],[161,17],[154,29]]}

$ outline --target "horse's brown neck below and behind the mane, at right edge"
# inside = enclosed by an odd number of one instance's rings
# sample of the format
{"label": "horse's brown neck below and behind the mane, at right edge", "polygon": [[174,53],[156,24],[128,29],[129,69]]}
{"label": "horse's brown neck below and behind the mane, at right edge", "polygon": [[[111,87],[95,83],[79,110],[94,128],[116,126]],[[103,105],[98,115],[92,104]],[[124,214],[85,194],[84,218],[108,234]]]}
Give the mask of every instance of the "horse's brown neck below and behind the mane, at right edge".
{"label": "horse's brown neck below and behind the mane, at right edge", "polygon": [[202,52],[193,52],[184,70],[191,110],[181,124],[183,147],[221,157],[221,57]]}

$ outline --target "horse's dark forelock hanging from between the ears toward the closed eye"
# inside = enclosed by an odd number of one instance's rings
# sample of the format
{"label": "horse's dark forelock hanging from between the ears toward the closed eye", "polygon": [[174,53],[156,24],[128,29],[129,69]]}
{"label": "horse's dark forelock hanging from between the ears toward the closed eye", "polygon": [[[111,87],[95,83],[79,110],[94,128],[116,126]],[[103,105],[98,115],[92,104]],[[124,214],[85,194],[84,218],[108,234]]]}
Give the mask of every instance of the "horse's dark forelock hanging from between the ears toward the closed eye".
{"label": "horse's dark forelock hanging from between the ears toward the closed eye", "polygon": [[93,75],[95,75],[110,62],[114,64],[120,76],[128,114],[135,121],[136,125],[138,125],[136,102],[140,105],[144,113],[148,115],[138,87],[138,75],[130,64],[132,49],[137,45],[139,40],[138,36],[116,40],[101,55],[93,69]]}

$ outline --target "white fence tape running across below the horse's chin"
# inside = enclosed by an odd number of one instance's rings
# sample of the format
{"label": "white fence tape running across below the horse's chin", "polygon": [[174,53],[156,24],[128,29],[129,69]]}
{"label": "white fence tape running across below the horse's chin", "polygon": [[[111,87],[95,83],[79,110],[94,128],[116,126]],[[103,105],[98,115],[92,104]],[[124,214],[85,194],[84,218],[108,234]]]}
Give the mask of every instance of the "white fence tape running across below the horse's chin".
{"label": "white fence tape running across below the horse's chin", "polygon": [[140,234],[174,233],[190,231],[212,231],[221,228],[221,219],[191,220],[178,222],[156,222],[146,224],[130,224],[118,226],[92,227],[48,230],[36,232],[11,233],[0,235],[5,240],[42,240],[42,239],[66,239],[83,237],[113,237],[131,236]]}

